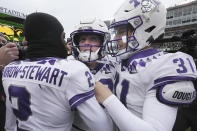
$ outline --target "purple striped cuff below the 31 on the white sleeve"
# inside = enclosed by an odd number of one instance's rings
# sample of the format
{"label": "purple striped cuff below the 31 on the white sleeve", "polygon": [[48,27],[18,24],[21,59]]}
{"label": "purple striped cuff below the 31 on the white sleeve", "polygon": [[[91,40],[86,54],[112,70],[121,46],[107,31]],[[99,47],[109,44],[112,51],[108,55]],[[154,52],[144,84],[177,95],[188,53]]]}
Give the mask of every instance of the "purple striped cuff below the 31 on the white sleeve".
{"label": "purple striped cuff below the 31 on the white sleeve", "polygon": [[165,86],[167,84],[172,84],[177,81],[194,81],[194,80],[195,80],[194,77],[188,77],[188,76],[167,76],[154,80],[155,85],[150,90],[156,89],[157,87]]}

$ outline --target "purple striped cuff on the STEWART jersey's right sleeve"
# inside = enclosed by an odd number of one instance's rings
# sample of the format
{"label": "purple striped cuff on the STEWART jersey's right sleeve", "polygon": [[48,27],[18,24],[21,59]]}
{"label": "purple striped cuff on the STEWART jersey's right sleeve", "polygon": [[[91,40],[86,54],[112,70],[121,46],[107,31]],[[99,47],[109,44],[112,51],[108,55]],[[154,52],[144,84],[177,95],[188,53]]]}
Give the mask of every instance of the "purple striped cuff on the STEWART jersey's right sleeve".
{"label": "purple striped cuff on the STEWART jersey's right sleeve", "polygon": [[93,96],[94,96],[94,90],[73,96],[69,100],[71,110],[73,111],[78,105],[80,105],[81,103],[85,102],[86,100],[88,100]]}

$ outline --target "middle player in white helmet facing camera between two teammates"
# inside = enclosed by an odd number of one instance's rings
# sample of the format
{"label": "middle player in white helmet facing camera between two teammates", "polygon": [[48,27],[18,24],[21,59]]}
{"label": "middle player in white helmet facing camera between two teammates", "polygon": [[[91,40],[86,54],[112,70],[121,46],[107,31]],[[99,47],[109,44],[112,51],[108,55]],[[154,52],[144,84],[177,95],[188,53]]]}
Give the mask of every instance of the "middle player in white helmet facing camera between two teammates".
{"label": "middle player in white helmet facing camera between two teammates", "polygon": [[[98,19],[82,20],[70,36],[74,57],[89,67],[97,81],[112,90],[114,65],[109,62],[108,57],[105,57],[104,49],[110,37],[106,24]],[[87,131],[89,129],[80,117],[76,117],[72,130]]]}

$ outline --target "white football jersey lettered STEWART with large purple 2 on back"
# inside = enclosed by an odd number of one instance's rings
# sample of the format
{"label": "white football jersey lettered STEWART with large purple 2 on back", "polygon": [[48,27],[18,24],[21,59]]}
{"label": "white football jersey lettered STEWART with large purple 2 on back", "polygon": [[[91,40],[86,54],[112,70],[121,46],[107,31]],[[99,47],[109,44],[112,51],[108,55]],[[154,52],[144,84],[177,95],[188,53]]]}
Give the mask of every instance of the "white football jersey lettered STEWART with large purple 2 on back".
{"label": "white football jersey lettered STEWART with large purple 2 on back", "polygon": [[[84,103],[87,108],[95,106],[100,111],[94,97],[94,78],[87,66],[77,60],[17,61],[4,68],[2,77],[7,108],[13,110],[18,128],[69,131],[73,111]],[[91,102],[87,102],[90,99]],[[91,116],[94,113],[88,113],[83,114],[88,120],[95,118]],[[100,115],[105,118],[104,112],[101,111]],[[9,130],[13,123],[8,120],[12,118],[6,119]]]}

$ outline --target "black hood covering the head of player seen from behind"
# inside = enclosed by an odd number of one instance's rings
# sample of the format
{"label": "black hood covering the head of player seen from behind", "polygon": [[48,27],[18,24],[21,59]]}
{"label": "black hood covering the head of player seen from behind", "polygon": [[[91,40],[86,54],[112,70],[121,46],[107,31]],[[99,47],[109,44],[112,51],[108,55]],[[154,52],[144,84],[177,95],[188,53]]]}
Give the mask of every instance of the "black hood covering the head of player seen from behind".
{"label": "black hood covering the head of player seen from behind", "polygon": [[67,51],[61,40],[63,31],[61,23],[52,15],[40,12],[28,15],[24,23],[27,58],[66,58]]}

